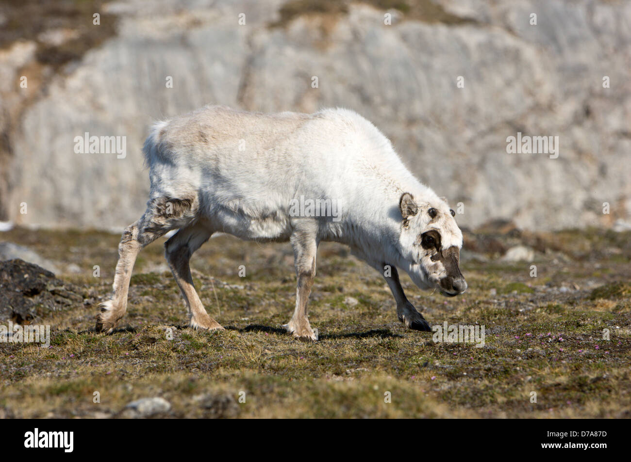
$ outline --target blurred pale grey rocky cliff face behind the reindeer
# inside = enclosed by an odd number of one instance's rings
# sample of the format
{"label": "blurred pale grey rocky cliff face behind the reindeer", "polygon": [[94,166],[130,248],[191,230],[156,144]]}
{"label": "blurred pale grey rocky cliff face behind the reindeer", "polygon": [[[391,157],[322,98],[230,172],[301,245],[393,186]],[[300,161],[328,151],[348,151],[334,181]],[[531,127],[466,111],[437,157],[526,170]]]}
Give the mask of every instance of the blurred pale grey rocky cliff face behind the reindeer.
{"label": "blurred pale grey rocky cliff face behind the reindeer", "polygon": [[[4,219],[126,226],[148,192],[141,154],[148,125],[213,103],[352,108],[392,139],[423,182],[454,208],[462,203],[457,219],[466,226],[628,220],[631,3],[416,0],[398,4],[404,11],[378,1],[226,3],[104,4],[114,35],[40,72],[47,77],[28,104],[19,78],[37,43],[6,45],[0,113],[21,110],[3,127]],[[75,153],[74,138],[85,132],[126,137],[126,156]],[[507,137],[518,132],[558,137],[558,157],[507,153]]]}

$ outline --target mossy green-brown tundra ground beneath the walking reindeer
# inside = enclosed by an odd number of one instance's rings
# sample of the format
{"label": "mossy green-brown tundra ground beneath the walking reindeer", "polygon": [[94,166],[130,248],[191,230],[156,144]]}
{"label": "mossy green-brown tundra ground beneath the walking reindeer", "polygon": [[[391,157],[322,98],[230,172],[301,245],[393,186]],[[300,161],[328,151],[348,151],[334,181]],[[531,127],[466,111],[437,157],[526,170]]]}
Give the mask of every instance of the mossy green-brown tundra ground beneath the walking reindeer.
{"label": "mossy green-brown tundra ground beneath the walking reindeer", "polygon": [[[97,334],[119,236],[3,233],[68,269],[57,276],[84,303],[32,320],[52,326],[49,348],[0,344],[0,417],[117,417],[156,396],[171,407],[154,417],[631,417],[631,233],[465,236],[463,296],[422,292],[406,276],[403,285],[430,325],[485,326],[483,348],[406,330],[384,280],[329,243],[309,306],[320,340],[294,340],[280,327],[295,303],[290,246],[230,236],[191,262],[204,306],[227,330],[187,328],[161,240],[138,258],[119,329]],[[500,259],[517,244],[536,250],[534,262]]]}

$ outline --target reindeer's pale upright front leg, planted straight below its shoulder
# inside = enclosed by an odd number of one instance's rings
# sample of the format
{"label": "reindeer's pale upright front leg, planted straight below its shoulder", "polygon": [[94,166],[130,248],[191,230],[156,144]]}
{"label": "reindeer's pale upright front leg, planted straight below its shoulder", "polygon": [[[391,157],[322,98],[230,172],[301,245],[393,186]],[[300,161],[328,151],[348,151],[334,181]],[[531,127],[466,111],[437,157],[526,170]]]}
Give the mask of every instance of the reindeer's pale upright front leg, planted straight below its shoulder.
{"label": "reindeer's pale upright front leg, planted straight below its shoulder", "polygon": [[315,255],[318,243],[314,226],[309,226],[309,224],[305,223],[305,226],[300,226],[300,228],[295,229],[290,238],[298,279],[296,308],[292,319],[283,327],[287,329],[287,332],[293,333],[294,337],[300,338],[300,340],[312,340],[315,342],[317,338],[307,318],[307,303],[309,303],[309,294],[314,284]]}

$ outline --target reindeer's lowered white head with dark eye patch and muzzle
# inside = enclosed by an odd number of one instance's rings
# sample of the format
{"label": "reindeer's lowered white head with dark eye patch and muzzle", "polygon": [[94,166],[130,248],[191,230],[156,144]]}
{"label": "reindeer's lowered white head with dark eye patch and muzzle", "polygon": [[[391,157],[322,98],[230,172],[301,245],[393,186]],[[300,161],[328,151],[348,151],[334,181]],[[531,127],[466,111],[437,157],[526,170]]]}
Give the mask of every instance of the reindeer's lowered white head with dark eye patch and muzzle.
{"label": "reindeer's lowered white head with dark eye patch and muzzle", "polygon": [[403,269],[421,289],[439,289],[453,297],[466,291],[467,283],[458,266],[463,233],[454,211],[441,199],[417,203],[410,193],[399,202],[403,222],[399,251]]}

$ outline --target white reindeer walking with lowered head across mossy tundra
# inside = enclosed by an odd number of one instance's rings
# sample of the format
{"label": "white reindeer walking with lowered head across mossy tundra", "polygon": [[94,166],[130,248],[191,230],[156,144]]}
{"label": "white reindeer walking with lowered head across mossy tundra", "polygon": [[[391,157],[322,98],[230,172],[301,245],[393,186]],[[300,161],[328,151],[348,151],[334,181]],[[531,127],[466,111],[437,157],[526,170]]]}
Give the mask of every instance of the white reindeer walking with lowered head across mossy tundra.
{"label": "white reindeer walking with lowered head across mossy tundra", "polygon": [[[298,288],[284,327],[298,338],[315,340],[307,301],[321,241],[350,246],[384,275],[408,328],[430,330],[406,298],[397,268],[422,289],[437,288],[446,296],[466,290],[458,267],[463,236],[454,212],[353,111],[261,114],[204,107],[153,125],[144,154],[150,199],[143,216],[122,234],[114,294],[101,304],[98,332],[112,332],[124,316],[138,252],[172,229],[179,231],[165,243],[165,255],[192,328],[223,329],[206,313],[189,267],[192,253],[218,232],[292,243]],[[307,200],[340,208],[329,216],[309,207],[297,213],[298,201]]]}

